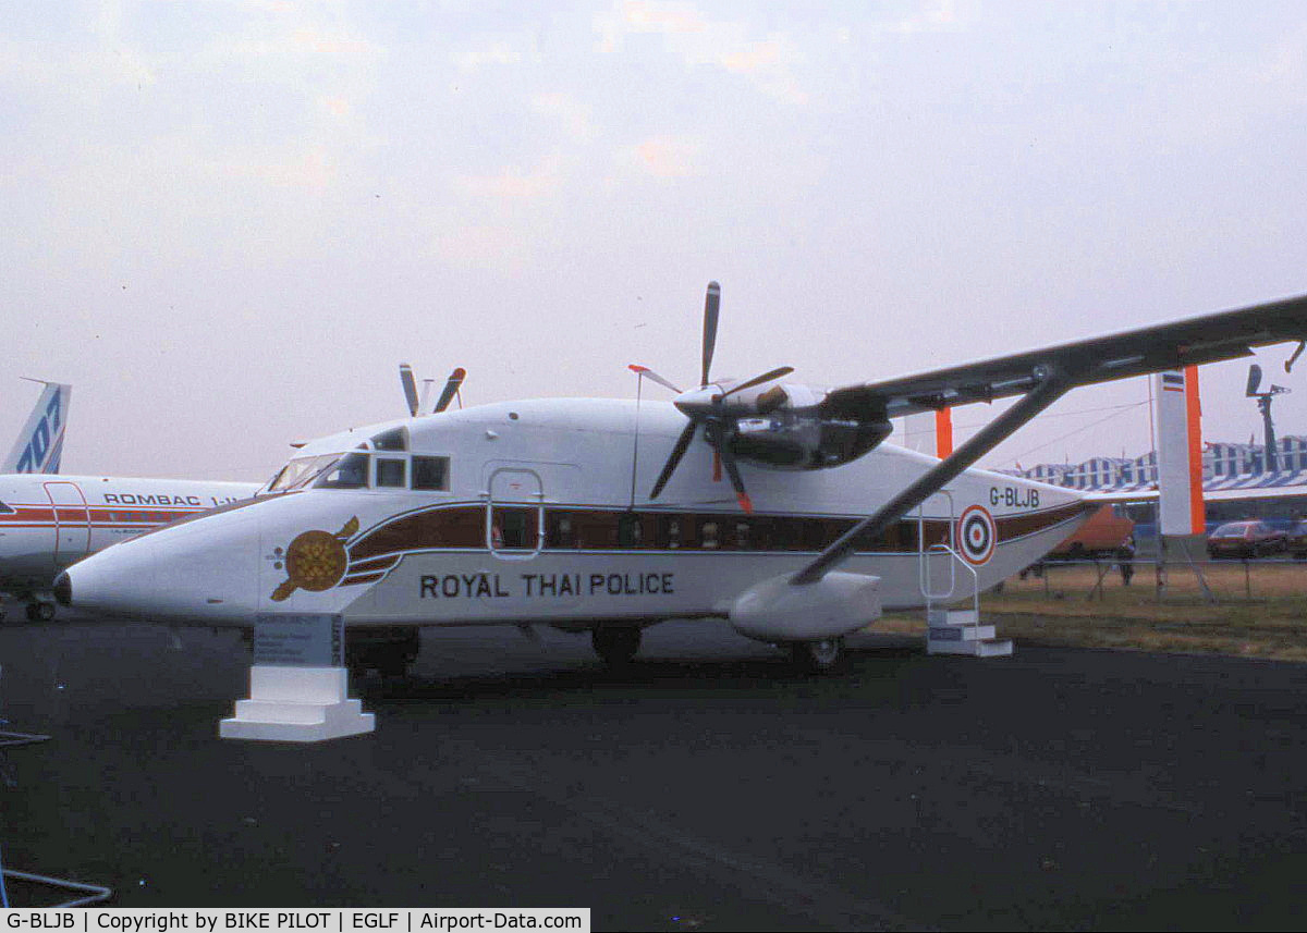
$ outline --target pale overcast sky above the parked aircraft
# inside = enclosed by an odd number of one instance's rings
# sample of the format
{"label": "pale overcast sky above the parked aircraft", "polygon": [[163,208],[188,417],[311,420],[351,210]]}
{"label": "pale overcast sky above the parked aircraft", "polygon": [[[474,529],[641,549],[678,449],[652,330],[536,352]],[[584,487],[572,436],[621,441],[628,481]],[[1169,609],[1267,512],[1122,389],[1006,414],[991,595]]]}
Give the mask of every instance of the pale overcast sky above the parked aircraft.
{"label": "pale overcast sky above the parked aircraft", "polygon": [[[689,384],[710,278],[718,375],[826,385],[1307,291],[1299,3],[0,21],[0,447],[18,376],[71,382],[65,473],[263,480],[401,414],[401,361],[469,404]],[[1260,443],[1246,375],[1202,370],[1208,439]],[[1146,397],[1073,392],[984,463],[1141,453]]]}

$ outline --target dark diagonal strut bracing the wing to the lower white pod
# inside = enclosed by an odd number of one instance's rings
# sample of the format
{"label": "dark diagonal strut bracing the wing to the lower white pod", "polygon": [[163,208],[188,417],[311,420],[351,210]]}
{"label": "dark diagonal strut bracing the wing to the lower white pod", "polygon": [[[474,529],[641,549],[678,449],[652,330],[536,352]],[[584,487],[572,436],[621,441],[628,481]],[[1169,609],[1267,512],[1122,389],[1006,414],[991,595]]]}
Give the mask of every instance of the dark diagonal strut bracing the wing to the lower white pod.
{"label": "dark diagonal strut bracing the wing to the lower white pod", "polygon": [[860,537],[880,534],[1076,385],[1073,375],[1060,372],[1051,366],[1036,366],[1033,376],[1034,385],[1016,405],[980,429],[937,466],[927,470],[916,482],[885,503],[878,512],[840,534],[830,548],[817,555],[816,561],[795,574],[789,583],[796,587],[817,583],[826,571],[853,553]]}

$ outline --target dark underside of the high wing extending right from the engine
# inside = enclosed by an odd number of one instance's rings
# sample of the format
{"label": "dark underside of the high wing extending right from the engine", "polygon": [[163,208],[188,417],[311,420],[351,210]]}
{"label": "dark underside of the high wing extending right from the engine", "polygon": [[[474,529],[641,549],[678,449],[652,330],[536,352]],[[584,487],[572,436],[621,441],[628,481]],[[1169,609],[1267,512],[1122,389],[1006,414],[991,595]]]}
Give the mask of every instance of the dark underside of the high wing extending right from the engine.
{"label": "dark underside of the high wing extending right from the engine", "polygon": [[1299,295],[899,379],[847,385],[833,389],[818,410],[829,418],[897,418],[1025,395],[1039,382],[1040,371],[1059,372],[1072,388],[1246,357],[1255,346],[1304,338],[1307,295]]}

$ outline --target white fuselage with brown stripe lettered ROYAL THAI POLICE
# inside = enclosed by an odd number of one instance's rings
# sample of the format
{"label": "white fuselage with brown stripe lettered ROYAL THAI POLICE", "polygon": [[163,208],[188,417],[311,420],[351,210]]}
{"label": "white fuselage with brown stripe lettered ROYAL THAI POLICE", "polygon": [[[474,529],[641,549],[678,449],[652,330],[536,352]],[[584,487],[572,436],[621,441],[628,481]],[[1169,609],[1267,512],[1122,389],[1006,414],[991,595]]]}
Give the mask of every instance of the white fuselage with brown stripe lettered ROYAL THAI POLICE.
{"label": "white fuselage with brown stripe lettered ROYAL THAI POLICE", "polygon": [[[231,626],[259,613],[578,630],[723,615],[742,591],[797,571],[937,463],[891,444],[830,469],[741,460],[746,515],[697,439],[651,500],[685,423],[665,402],[555,399],[324,438],[288,465],[286,491],[78,563],[72,602]],[[295,470],[307,476],[350,452],[349,464],[295,487]],[[843,568],[881,578],[886,609],[923,605],[925,591],[959,600],[1038,561],[1086,515],[1070,490],[971,469],[863,542]]]}

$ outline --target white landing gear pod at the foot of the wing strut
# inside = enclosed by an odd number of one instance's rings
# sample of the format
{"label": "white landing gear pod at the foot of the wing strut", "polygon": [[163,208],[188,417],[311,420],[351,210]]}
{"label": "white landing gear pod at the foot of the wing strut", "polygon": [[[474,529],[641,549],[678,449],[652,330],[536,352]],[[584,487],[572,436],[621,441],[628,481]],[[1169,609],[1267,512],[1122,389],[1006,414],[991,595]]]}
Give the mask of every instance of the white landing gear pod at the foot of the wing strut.
{"label": "white landing gear pod at the foot of the wing strut", "polygon": [[817,642],[857,631],[881,617],[881,578],[830,572],[800,587],[791,575],[744,591],[731,605],[731,625],[759,642]]}

